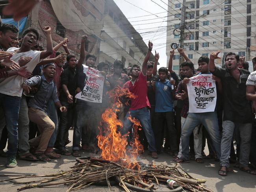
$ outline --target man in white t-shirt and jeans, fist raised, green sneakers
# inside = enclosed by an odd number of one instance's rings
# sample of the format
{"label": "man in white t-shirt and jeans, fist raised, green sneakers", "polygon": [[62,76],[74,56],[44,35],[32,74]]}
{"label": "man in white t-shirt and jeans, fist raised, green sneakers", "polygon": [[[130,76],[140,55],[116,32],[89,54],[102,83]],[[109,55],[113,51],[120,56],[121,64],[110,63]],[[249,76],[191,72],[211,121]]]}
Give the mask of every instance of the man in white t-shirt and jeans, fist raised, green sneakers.
{"label": "man in white t-shirt and jeans, fist raised, green sneakers", "polygon": [[[53,52],[52,48],[52,36],[51,28],[46,26],[43,28],[46,33],[47,47],[45,51],[33,51],[33,48],[39,39],[39,33],[34,28],[28,28],[23,32],[22,44],[20,48],[12,47],[7,51],[12,53],[11,60],[19,63],[21,57],[31,57],[27,66],[27,70],[32,72],[35,66]],[[21,76],[11,76],[9,78],[0,79],[0,107],[4,110],[6,117],[6,127],[8,131],[8,151],[7,151],[7,168],[13,168],[17,166],[16,153],[18,145],[18,119],[19,119],[19,108],[20,99],[22,96],[22,83],[27,78]],[[1,130],[0,130],[1,131]]]}

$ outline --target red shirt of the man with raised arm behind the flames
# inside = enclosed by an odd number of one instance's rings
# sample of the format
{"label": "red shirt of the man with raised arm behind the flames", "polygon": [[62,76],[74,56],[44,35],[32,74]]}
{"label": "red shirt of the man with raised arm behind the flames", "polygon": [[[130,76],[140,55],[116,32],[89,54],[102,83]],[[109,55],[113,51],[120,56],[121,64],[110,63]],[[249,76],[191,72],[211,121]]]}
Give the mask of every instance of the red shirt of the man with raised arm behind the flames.
{"label": "red shirt of the man with raised arm behind the flames", "polygon": [[137,96],[135,99],[131,100],[130,111],[141,109],[143,107],[150,107],[147,95],[147,76],[144,76],[142,72],[140,72],[139,77],[134,83],[131,80],[127,81],[123,88],[128,88],[130,92]]}

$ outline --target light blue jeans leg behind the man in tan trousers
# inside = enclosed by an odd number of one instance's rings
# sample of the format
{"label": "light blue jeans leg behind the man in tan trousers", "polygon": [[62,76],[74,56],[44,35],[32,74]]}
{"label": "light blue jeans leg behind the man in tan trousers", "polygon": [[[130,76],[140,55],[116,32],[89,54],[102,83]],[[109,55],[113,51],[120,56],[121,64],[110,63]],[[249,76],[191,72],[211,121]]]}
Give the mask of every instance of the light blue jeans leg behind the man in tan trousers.
{"label": "light blue jeans leg behind the man in tan trousers", "polygon": [[54,125],[55,125],[55,129],[54,129],[54,132],[52,133],[52,136],[49,140],[48,147],[54,147],[57,133],[58,133],[57,132],[58,131],[58,115],[57,115],[55,103],[52,100],[52,98],[50,98],[47,103],[47,114],[48,114],[49,118],[52,120],[52,122],[54,122]]}

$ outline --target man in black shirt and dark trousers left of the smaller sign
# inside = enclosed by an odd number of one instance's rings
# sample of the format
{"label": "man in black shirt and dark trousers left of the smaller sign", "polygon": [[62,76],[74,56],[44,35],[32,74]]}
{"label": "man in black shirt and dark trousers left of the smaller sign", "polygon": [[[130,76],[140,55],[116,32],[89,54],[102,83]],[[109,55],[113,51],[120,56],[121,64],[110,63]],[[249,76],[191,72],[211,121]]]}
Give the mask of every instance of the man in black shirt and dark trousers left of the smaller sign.
{"label": "man in black shirt and dark trousers left of the smaller sign", "polygon": [[76,55],[67,55],[68,67],[61,74],[61,85],[63,91],[59,99],[61,105],[67,108],[67,112],[60,114],[58,140],[56,147],[61,155],[71,155],[65,150],[65,134],[72,126],[74,118],[74,102],[76,95],[76,68],[80,68],[85,60],[84,43],[87,40],[87,35],[82,36],[80,58],[77,62]]}

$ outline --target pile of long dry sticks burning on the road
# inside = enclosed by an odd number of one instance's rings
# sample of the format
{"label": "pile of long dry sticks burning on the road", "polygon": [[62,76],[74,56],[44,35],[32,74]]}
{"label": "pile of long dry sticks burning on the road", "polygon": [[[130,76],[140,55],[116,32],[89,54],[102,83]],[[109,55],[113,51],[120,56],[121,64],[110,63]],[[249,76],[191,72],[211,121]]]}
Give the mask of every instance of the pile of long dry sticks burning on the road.
{"label": "pile of long dry sticks burning on the road", "polygon": [[157,191],[160,183],[166,184],[168,179],[172,179],[176,181],[180,187],[189,192],[213,192],[203,186],[203,183],[205,183],[206,180],[191,177],[181,168],[180,164],[175,164],[173,167],[163,164],[143,164],[140,162],[138,164],[140,165],[140,169],[138,170],[137,166],[134,166],[136,167],[135,170],[127,168],[130,165],[127,162],[118,164],[116,162],[90,157],[88,159],[81,160],[79,164],[71,167],[69,171],[48,175],[26,175],[2,181],[20,179],[24,177],[50,177],[36,181],[12,182],[14,184],[26,184],[21,186],[18,191],[29,188],[65,185],[69,187],[67,192],[70,192],[71,190],[84,189],[89,185],[98,183],[99,181],[106,181],[110,191],[111,186],[109,181],[114,179],[115,181],[118,181],[119,185],[126,192],[130,192],[127,187],[129,184]]}

